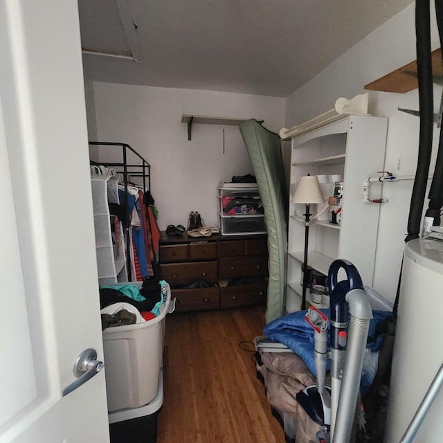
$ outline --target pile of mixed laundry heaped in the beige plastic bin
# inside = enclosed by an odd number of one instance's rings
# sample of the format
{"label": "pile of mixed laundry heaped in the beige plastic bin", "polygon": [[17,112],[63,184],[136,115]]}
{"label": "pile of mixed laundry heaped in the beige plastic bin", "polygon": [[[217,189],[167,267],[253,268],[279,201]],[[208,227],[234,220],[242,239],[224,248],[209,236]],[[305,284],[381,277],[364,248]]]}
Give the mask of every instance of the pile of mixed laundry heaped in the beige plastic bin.
{"label": "pile of mixed laundry heaped in the beige plastic bin", "polygon": [[156,318],[168,298],[168,287],[165,280],[154,279],[144,280],[141,288],[130,283],[100,286],[102,330]]}

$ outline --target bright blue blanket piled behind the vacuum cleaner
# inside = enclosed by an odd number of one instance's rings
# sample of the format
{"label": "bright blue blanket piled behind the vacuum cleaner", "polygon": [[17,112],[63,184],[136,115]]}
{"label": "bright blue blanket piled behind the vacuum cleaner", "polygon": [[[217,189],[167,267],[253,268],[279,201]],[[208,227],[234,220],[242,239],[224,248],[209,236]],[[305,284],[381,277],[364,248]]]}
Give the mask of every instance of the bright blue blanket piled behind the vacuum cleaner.
{"label": "bright blue blanket piled behind the vacuum cleaner", "polygon": [[[320,309],[320,311],[329,318],[329,309]],[[314,329],[312,329],[309,323],[305,320],[305,314],[306,311],[298,311],[276,318],[264,327],[263,334],[272,341],[283,343],[293,352],[298,354],[311,373],[316,376],[317,372],[314,361]],[[378,326],[383,320],[392,316],[392,312],[372,311],[372,315],[374,318],[370,320],[366,347],[373,351],[377,351],[383,341],[383,335],[379,334]],[[329,321],[327,327],[329,329]],[[330,364],[330,360],[328,360],[327,370],[330,369]]]}

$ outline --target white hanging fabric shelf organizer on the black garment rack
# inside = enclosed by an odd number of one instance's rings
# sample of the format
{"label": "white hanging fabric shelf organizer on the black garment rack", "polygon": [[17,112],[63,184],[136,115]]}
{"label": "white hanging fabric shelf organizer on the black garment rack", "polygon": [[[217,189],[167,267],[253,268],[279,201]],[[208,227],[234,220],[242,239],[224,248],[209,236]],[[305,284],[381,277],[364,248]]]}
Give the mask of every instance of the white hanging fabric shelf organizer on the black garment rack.
{"label": "white hanging fabric shelf organizer on the black garment rack", "polygon": [[118,180],[113,176],[91,177],[99,284],[127,282],[125,231],[120,221],[116,250],[111,233],[109,203],[118,204]]}

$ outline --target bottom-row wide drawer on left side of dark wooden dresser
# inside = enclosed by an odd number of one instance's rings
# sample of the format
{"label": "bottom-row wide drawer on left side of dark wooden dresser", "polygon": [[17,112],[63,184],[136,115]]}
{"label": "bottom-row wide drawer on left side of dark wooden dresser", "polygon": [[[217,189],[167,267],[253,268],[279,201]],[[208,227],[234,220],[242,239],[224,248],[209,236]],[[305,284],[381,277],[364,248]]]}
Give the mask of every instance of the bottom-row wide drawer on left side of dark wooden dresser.
{"label": "bottom-row wide drawer on left side of dark wooden dresser", "polygon": [[175,311],[201,311],[220,309],[220,289],[172,289],[171,297],[176,298]]}

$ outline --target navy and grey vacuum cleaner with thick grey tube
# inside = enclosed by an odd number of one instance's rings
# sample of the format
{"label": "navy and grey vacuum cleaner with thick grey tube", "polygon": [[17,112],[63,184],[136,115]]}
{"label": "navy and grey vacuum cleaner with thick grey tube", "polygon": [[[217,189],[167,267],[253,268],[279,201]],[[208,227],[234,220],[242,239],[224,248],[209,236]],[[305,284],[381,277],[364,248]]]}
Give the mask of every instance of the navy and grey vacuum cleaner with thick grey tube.
{"label": "navy and grey vacuum cleaner with thick grey tube", "polygon": [[[346,280],[338,282],[340,270],[345,272]],[[327,432],[318,433],[317,442],[349,443],[372,308],[359,271],[347,260],[335,260],[329,267],[329,293],[331,388],[329,390],[325,387],[327,317],[318,309],[310,307],[305,319],[314,328],[317,386],[299,392],[297,399],[305,410],[311,406],[323,419]]]}

